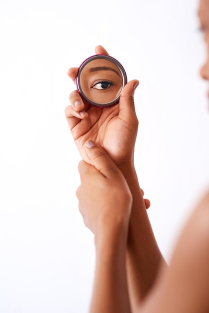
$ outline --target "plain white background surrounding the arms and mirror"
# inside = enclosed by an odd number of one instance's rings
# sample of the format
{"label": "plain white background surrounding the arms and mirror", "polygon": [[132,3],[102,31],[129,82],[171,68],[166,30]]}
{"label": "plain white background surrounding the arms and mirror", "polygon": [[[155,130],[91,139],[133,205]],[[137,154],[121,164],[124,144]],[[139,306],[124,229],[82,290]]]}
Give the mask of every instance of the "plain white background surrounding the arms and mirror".
{"label": "plain white background surrounding the arms and mirror", "polygon": [[87,312],[93,236],[75,190],[66,75],[102,44],[138,78],[135,164],[169,261],[208,186],[196,0],[0,0],[0,312]]}

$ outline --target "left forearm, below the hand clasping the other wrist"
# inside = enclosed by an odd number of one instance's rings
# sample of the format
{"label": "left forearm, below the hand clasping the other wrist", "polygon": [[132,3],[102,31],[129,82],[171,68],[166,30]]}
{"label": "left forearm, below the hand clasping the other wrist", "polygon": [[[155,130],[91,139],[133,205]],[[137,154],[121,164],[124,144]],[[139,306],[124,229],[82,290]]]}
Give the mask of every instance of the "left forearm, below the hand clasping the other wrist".
{"label": "left forearm, below the hand clasping the other wrist", "polygon": [[[104,233],[105,232],[105,233]],[[90,313],[130,313],[125,250],[127,226],[95,235],[96,268]]]}

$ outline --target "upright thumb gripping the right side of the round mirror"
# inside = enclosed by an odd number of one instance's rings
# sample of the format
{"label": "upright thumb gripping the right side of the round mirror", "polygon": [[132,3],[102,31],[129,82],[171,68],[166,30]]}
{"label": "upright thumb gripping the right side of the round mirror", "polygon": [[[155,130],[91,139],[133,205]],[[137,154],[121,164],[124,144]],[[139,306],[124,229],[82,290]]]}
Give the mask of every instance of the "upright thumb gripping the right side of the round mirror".
{"label": "upright thumb gripping the right side of the round mirror", "polygon": [[119,116],[121,119],[136,118],[133,96],[138,84],[138,80],[130,80],[121,92],[119,99]]}

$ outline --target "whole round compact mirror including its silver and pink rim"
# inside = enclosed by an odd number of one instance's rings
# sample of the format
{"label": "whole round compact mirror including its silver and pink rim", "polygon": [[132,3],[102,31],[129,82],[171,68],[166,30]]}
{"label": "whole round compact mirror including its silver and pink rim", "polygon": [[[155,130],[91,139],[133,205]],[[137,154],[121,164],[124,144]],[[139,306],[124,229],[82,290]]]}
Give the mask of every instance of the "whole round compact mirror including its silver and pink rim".
{"label": "whole round compact mirror including its silver and pink rim", "polygon": [[93,55],[79,67],[77,90],[89,104],[107,107],[116,104],[127,77],[122,65],[108,55]]}

